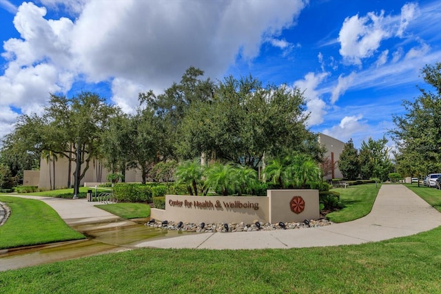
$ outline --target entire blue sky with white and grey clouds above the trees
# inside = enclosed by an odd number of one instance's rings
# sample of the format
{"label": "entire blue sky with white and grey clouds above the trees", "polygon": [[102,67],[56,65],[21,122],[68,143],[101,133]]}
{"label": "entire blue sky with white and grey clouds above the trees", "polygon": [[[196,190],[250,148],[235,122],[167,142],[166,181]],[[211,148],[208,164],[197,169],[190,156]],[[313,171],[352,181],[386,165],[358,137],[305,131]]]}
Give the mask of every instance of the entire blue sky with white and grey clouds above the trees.
{"label": "entire blue sky with white and grey clouds above the trees", "polygon": [[0,137],[50,93],[98,92],[132,112],[139,92],[194,66],[298,86],[312,131],[360,147],[427,87],[440,19],[439,0],[0,0]]}

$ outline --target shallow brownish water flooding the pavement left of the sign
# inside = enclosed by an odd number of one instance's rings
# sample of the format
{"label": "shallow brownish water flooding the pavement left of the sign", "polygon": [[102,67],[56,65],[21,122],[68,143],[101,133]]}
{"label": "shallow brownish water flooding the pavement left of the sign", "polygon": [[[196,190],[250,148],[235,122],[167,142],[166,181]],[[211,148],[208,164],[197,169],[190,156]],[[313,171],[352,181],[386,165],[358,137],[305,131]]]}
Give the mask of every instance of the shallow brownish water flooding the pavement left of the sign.
{"label": "shallow brownish water flooding the pavement left of the sign", "polygon": [[131,244],[137,244],[142,240],[172,238],[185,234],[185,232],[146,227],[144,223],[147,220],[124,222],[123,226],[114,222],[83,224],[72,227],[76,231],[83,233],[88,238],[87,240],[34,246],[8,253],[1,253],[0,251],[0,271],[130,250],[134,249],[134,246],[131,246]]}

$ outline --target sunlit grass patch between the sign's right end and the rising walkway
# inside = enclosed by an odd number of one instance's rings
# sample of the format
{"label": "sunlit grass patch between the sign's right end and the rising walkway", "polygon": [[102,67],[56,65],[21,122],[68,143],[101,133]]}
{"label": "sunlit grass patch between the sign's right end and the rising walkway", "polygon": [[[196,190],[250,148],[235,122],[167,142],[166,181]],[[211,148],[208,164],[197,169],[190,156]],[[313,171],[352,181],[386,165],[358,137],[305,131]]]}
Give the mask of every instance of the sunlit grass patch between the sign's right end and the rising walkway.
{"label": "sunlit grass patch between the sign's right end and the rising walkway", "polygon": [[380,187],[381,185],[376,187],[376,184],[365,184],[332,189],[340,193],[343,209],[328,213],[326,217],[332,222],[349,222],[366,216],[371,212]]}

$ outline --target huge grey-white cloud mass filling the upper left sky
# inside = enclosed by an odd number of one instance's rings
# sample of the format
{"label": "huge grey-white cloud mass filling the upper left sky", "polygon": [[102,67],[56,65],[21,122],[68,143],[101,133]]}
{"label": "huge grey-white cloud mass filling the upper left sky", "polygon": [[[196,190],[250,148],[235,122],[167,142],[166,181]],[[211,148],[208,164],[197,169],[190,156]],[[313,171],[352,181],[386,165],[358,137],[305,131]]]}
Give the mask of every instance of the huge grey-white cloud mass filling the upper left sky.
{"label": "huge grey-white cloud mass filling the upper left sky", "polygon": [[[12,8],[9,1],[0,1]],[[36,105],[44,105],[49,93],[65,94],[77,80],[112,81],[113,101],[131,111],[138,103],[135,92],[161,92],[190,66],[220,78],[237,59],[258,56],[263,42],[280,39],[308,1],[39,3],[75,17],[47,19],[44,7],[19,6],[14,25],[21,37],[3,43],[7,63],[0,76],[0,101],[23,113],[41,109]],[[278,45],[284,46],[283,41]]]}

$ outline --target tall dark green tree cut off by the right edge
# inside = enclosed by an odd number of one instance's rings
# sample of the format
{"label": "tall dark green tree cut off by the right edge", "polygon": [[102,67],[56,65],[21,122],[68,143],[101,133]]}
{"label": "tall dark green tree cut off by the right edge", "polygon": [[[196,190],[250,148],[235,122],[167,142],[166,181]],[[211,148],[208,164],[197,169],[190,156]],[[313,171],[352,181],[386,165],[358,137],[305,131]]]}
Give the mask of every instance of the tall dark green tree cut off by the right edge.
{"label": "tall dark green tree cut off by the right edge", "polygon": [[441,63],[426,65],[422,77],[429,89],[418,87],[420,96],[403,101],[407,113],[393,116],[390,131],[398,170],[409,176],[441,171]]}

